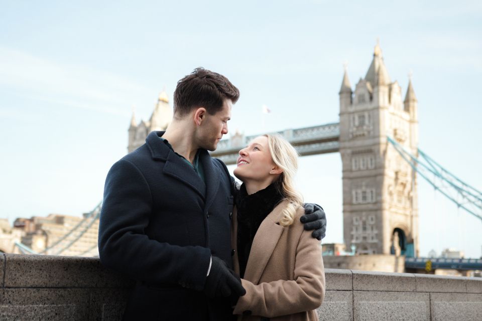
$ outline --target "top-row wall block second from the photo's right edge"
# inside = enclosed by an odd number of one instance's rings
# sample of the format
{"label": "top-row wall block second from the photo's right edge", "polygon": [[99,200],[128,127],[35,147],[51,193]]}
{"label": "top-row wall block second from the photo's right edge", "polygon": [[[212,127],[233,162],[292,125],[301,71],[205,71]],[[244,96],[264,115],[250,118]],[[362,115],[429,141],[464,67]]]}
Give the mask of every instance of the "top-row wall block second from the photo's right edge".
{"label": "top-row wall block second from the photo's right edge", "polygon": [[466,277],[415,274],[417,292],[453,292],[465,293]]}

